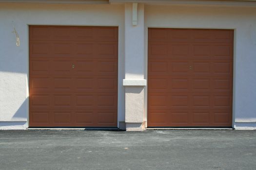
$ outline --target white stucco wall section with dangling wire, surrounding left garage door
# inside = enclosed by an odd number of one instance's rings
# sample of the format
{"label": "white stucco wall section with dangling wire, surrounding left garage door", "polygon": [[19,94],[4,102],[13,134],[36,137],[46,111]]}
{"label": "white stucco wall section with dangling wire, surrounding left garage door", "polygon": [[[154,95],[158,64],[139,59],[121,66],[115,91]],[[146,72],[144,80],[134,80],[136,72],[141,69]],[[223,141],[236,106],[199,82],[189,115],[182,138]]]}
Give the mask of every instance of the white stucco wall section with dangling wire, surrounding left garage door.
{"label": "white stucco wall section with dangling wire, surrounding left garage door", "polygon": [[118,26],[118,121],[124,121],[124,4],[0,3],[0,128],[27,126],[28,25]]}

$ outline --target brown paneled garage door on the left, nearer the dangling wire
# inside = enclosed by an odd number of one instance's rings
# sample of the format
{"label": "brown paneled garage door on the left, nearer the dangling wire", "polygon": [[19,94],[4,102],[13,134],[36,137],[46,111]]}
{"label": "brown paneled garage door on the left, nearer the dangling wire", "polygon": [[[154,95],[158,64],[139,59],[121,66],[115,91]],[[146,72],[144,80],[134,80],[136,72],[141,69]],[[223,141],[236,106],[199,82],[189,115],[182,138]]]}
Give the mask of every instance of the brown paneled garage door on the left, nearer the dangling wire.
{"label": "brown paneled garage door on the left, nearer the dangling wire", "polygon": [[117,127],[118,27],[29,26],[29,126]]}

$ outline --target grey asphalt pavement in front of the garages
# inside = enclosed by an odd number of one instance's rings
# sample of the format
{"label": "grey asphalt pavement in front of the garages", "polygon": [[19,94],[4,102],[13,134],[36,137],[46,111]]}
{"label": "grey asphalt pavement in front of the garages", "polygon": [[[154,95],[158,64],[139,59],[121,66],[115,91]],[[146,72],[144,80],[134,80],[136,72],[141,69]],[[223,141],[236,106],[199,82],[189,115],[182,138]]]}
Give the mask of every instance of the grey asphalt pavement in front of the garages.
{"label": "grey asphalt pavement in front of the garages", "polygon": [[256,131],[0,131],[0,170],[256,170]]}

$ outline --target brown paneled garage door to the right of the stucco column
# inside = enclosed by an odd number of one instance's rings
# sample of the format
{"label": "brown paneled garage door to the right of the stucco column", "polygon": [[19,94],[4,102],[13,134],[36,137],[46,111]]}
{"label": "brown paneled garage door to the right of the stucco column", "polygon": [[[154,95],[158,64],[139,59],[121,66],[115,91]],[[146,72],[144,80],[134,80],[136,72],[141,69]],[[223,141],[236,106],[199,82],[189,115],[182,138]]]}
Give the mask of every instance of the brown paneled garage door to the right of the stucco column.
{"label": "brown paneled garage door to the right of the stucco column", "polygon": [[233,30],[148,30],[148,126],[232,126]]}

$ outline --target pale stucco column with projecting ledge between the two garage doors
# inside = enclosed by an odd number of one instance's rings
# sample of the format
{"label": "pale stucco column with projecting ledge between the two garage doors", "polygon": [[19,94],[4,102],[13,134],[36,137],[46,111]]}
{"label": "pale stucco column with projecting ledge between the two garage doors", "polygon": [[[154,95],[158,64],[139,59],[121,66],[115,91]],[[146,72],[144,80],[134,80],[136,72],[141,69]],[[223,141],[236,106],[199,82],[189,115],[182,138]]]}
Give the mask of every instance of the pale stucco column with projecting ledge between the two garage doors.
{"label": "pale stucco column with projecting ledge between the two garage doors", "polygon": [[[138,6],[137,6],[138,5]],[[125,123],[127,131],[144,129],[144,4],[125,3]]]}

